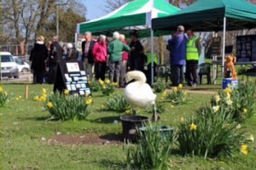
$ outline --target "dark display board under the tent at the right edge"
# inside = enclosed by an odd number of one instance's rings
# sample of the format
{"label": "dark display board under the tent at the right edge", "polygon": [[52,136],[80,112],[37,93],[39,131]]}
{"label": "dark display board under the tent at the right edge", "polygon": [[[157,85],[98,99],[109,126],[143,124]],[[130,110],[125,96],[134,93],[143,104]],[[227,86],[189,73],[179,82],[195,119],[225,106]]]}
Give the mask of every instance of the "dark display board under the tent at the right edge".
{"label": "dark display board under the tent at the right edge", "polygon": [[236,37],[236,57],[238,62],[256,61],[256,35]]}

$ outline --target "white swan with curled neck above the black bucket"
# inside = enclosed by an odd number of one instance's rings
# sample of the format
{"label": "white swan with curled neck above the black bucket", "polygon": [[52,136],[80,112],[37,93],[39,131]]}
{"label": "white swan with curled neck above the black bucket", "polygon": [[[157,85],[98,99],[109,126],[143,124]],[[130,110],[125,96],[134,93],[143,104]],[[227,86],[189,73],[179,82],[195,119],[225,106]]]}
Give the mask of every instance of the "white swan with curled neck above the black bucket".
{"label": "white swan with curled neck above the black bucket", "polygon": [[[135,82],[131,82],[135,80]],[[155,99],[156,95],[152,88],[146,83],[146,77],[142,71],[129,71],[125,74],[125,82],[128,85],[125,87],[125,100],[131,105],[132,109],[146,108],[154,105],[154,121],[157,121]]]}

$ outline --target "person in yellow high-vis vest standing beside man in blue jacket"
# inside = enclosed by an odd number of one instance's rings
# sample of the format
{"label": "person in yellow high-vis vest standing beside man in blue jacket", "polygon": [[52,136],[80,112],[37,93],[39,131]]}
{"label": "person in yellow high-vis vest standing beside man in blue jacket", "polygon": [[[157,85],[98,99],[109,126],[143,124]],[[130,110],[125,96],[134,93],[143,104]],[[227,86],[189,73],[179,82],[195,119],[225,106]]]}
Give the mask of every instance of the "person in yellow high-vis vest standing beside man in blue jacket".
{"label": "person in yellow high-vis vest standing beside man in blue jacket", "polygon": [[198,84],[197,68],[201,54],[201,42],[200,38],[196,37],[192,30],[188,30],[187,35],[189,40],[186,54],[186,77],[188,85],[195,88]]}

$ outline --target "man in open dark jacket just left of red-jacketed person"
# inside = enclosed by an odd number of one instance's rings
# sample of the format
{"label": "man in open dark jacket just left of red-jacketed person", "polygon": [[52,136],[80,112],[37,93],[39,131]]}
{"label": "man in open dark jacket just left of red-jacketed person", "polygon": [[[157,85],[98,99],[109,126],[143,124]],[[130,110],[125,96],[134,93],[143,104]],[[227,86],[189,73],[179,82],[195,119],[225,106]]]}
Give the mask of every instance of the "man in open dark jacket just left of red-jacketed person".
{"label": "man in open dark jacket just left of red-jacketed person", "polygon": [[89,79],[92,80],[94,74],[94,57],[92,54],[92,48],[96,42],[91,39],[90,31],[86,31],[84,36],[85,41],[82,42],[82,59],[86,74],[89,74]]}

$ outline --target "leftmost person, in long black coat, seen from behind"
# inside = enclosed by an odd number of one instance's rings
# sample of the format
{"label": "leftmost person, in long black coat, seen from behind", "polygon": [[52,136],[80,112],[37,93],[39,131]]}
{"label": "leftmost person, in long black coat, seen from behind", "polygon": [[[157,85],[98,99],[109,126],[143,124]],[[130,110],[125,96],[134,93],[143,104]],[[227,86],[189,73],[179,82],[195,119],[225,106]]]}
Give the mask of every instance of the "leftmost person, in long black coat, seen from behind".
{"label": "leftmost person, in long black coat, seen from behind", "polygon": [[37,38],[37,42],[32,48],[29,60],[32,61],[33,83],[42,84],[44,82],[45,59],[48,57],[48,49],[44,45],[44,37]]}

